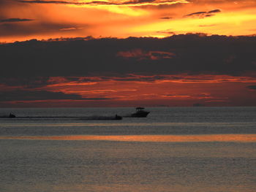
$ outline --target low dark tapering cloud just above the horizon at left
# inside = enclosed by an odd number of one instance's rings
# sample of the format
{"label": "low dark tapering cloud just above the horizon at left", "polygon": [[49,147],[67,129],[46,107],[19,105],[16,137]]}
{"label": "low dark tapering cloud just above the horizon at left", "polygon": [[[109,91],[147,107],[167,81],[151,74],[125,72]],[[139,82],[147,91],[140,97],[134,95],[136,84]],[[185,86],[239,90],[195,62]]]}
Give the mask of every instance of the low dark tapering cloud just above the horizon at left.
{"label": "low dark tapering cloud just above the horizon at left", "polygon": [[37,100],[108,100],[108,98],[82,98],[77,94],[65,94],[62,92],[50,92],[50,91],[1,91],[0,101],[37,101]]}

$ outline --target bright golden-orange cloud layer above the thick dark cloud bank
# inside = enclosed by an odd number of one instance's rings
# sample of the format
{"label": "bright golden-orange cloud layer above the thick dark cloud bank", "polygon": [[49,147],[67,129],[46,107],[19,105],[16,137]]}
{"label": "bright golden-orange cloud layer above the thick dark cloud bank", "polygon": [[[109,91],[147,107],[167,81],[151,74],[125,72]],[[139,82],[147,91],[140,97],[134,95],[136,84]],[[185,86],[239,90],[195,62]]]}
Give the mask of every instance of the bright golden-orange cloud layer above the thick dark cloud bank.
{"label": "bright golden-orange cloud layer above the thick dark cloud bank", "polygon": [[255,9],[256,2],[250,0],[59,0],[12,3],[3,0],[0,20],[4,22],[0,22],[0,38],[1,42],[14,42],[86,36],[167,37],[187,33],[252,35],[256,28]]}

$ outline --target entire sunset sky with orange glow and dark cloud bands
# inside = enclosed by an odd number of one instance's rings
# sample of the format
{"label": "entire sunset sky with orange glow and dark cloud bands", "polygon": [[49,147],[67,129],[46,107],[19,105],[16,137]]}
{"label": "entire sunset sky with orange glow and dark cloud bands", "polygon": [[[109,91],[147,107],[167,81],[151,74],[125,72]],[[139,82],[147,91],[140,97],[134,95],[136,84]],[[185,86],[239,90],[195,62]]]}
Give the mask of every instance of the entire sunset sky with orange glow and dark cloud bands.
{"label": "entire sunset sky with orange glow and dark cloud bands", "polygon": [[0,0],[0,107],[256,106],[254,0]]}

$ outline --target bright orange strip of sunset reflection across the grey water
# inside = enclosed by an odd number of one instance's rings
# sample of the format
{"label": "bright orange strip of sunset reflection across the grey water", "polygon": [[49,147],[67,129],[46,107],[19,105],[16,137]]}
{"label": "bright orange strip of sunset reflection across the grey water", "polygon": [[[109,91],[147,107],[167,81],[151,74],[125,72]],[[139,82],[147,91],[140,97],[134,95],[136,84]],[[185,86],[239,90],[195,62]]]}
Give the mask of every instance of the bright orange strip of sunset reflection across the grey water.
{"label": "bright orange strip of sunset reflection across the grey water", "polygon": [[118,142],[256,142],[256,134],[69,135],[69,136],[0,137],[0,139],[86,140],[86,141],[118,141]]}

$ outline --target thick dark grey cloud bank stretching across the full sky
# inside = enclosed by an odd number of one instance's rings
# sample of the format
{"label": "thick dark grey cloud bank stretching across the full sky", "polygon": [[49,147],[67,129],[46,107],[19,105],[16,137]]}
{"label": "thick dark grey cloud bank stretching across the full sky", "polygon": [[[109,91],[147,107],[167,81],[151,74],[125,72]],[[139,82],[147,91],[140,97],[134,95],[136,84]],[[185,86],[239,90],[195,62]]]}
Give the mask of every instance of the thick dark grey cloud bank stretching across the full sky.
{"label": "thick dark grey cloud bank stretching across the full sky", "polygon": [[[141,54],[130,57],[118,55],[135,55],[134,50],[141,50]],[[174,56],[166,57],[167,53]],[[145,54],[148,56],[139,59]],[[157,59],[152,59],[151,55]],[[30,40],[0,45],[0,77],[6,82],[10,78],[29,81],[35,77],[113,74],[242,75],[256,72],[255,55],[256,37],[186,34],[164,39]]]}

